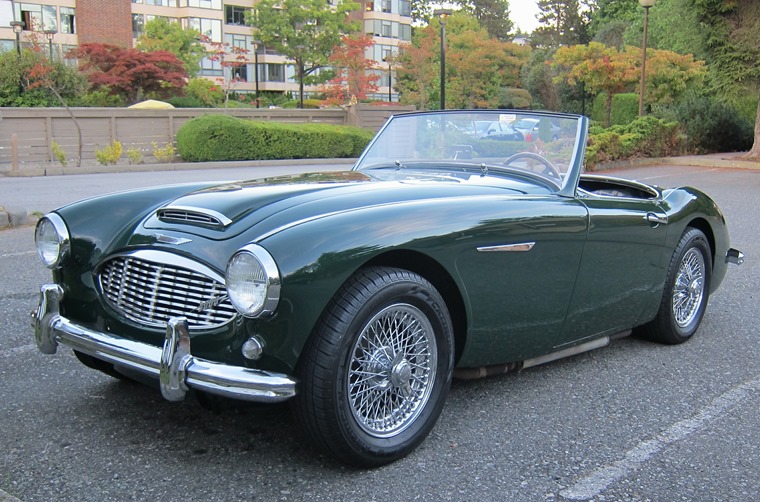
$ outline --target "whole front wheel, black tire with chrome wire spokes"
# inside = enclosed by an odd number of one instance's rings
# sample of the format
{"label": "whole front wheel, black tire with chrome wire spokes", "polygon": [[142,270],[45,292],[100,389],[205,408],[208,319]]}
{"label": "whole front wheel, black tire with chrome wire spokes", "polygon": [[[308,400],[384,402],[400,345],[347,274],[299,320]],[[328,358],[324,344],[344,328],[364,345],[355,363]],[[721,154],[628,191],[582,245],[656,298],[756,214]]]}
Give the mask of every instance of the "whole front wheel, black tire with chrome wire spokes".
{"label": "whole front wheel, black tire with chrome wire spokes", "polygon": [[336,293],[304,348],[296,421],[347,464],[393,462],[438,420],[453,347],[446,304],[428,281],[400,269],[363,269]]}

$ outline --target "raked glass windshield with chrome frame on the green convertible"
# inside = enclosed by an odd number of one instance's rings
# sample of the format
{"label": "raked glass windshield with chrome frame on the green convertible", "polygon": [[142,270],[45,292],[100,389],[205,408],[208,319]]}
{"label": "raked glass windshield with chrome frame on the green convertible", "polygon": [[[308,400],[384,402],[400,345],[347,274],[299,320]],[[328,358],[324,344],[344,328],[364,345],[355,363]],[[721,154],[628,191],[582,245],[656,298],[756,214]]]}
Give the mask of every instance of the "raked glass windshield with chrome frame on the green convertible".
{"label": "raked glass windshield with chrome frame on the green convertible", "polygon": [[445,111],[391,118],[354,169],[472,166],[541,178],[557,189],[579,163],[581,117],[511,110]]}

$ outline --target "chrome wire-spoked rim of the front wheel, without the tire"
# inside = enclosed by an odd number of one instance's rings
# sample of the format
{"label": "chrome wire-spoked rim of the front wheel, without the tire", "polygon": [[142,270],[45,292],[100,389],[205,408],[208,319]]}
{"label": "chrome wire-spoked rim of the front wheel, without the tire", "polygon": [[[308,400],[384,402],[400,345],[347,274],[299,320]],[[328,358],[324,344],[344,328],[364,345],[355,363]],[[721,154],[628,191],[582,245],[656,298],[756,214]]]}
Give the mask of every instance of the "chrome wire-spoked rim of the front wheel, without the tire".
{"label": "chrome wire-spoked rim of the front wheel, without the tire", "polygon": [[378,312],[356,340],[348,368],[359,427],[380,438],[409,427],[430,398],[436,364],[435,334],[422,311],[400,303]]}

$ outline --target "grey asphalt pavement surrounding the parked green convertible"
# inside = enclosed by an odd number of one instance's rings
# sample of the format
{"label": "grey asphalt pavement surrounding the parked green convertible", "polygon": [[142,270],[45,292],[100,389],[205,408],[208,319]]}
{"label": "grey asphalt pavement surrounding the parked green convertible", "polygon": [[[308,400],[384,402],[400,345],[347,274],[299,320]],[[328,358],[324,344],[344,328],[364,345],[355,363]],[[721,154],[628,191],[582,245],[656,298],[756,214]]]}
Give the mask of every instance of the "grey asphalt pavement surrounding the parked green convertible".
{"label": "grey asphalt pavement surrounding the parked green convertible", "polygon": [[[349,165],[0,178],[0,204],[43,213],[139,186],[335,168]],[[612,174],[695,186],[726,214],[747,260],[711,296],[697,336],[678,346],[630,337],[515,375],[455,381],[420,448],[367,471],[305,447],[286,406],[169,403],[70,350],[40,354],[28,314],[50,272],[31,226],[0,231],[0,501],[757,500],[760,170],[663,162]]]}

